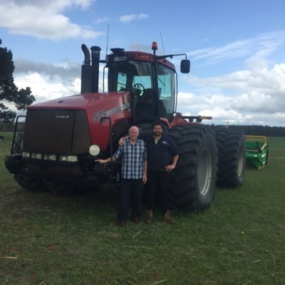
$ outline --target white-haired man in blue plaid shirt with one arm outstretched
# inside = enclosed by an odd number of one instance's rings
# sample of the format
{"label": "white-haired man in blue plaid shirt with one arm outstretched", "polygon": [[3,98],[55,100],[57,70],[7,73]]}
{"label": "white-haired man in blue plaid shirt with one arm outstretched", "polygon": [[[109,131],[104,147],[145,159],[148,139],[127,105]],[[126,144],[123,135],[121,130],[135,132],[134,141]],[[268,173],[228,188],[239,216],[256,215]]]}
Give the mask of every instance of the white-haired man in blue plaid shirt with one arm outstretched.
{"label": "white-haired man in blue plaid shirt with one arm outstretched", "polygon": [[[139,223],[142,216],[142,188],[147,181],[147,150],[145,142],[138,139],[139,133],[138,127],[131,127],[128,140],[125,140],[113,155],[113,160],[123,157],[118,205],[118,219],[121,227],[125,226],[127,222],[130,201],[133,222]],[[95,161],[106,163],[110,160],[111,157]]]}

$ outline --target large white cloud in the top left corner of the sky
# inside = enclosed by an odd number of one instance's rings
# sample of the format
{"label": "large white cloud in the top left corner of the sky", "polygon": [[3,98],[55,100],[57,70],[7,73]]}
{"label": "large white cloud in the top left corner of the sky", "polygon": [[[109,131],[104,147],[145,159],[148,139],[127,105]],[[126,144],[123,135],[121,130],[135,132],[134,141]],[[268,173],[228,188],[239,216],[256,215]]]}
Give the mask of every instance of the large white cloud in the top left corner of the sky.
{"label": "large white cloud in the top left corner of the sky", "polygon": [[1,1],[0,26],[16,33],[52,40],[96,38],[100,32],[74,24],[63,11],[78,6],[87,9],[92,0]]}

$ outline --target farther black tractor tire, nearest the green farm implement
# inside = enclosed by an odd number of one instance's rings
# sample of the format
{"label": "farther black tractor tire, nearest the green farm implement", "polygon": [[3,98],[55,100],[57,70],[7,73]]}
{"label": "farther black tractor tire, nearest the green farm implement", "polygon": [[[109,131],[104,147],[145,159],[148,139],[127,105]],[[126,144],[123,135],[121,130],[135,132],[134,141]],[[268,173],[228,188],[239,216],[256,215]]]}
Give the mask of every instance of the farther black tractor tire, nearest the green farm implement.
{"label": "farther black tractor tire, nearest the green farm implement", "polygon": [[219,130],[216,133],[218,147],[217,186],[239,187],[244,182],[246,143],[244,132]]}

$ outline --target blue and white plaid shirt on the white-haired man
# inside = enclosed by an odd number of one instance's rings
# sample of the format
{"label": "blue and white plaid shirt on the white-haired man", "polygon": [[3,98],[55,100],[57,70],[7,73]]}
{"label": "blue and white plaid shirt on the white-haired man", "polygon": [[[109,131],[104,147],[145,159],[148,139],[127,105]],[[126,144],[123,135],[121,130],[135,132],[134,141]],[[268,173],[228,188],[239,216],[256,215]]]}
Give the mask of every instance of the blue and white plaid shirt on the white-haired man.
{"label": "blue and white plaid shirt on the white-haired man", "polygon": [[147,159],[147,148],[143,140],[138,139],[135,145],[125,140],[118,148],[114,158],[123,157],[122,177],[125,179],[140,179],[143,176],[143,165]]}

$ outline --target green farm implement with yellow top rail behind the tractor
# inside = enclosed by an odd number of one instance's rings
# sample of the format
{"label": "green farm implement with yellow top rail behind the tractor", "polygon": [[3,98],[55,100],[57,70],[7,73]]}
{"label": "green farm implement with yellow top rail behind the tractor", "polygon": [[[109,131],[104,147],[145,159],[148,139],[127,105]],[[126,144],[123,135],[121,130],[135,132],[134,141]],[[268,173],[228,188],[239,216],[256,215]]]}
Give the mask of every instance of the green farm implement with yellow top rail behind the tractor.
{"label": "green farm implement with yellow top rail behind the tractor", "polygon": [[261,170],[265,167],[269,157],[269,142],[261,135],[246,135],[247,165]]}

